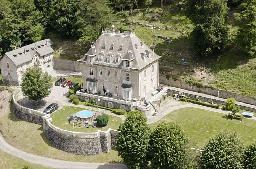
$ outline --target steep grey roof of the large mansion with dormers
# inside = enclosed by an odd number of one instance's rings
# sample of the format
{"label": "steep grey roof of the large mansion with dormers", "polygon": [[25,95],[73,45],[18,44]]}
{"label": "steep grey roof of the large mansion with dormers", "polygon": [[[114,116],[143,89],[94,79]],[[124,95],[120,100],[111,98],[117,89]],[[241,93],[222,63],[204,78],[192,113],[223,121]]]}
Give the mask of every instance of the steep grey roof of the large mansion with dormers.
{"label": "steep grey roof of the large mansion with dormers", "polygon": [[[105,48],[103,48],[105,45]],[[112,44],[114,43],[113,49],[111,49]],[[143,45],[141,45],[141,43]],[[123,49],[120,49],[120,46],[123,45]],[[136,46],[135,46],[136,45]],[[95,48],[94,48],[95,47]],[[95,53],[93,52],[95,49]],[[133,69],[141,69],[144,66],[150,64],[151,62],[154,62],[161,58],[161,56],[158,56],[155,54],[148,46],[146,46],[141,40],[134,34],[130,36],[125,36],[124,34],[118,34],[118,33],[103,33],[100,35],[100,37],[96,40],[96,42],[93,44],[92,48],[89,49],[89,51],[86,53],[86,55],[98,57],[98,55],[101,55],[100,52],[104,51],[104,56],[102,57],[102,61],[99,62],[98,59],[95,59],[96,61],[93,62],[93,64],[100,64],[106,63],[107,65],[115,65],[121,67],[122,62],[116,63],[115,58],[121,56],[121,60],[133,60],[130,61],[130,68]],[[131,51],[128,53],[128,51]],[[144,62],[144,60],[141,57],[140,53],[146,53],[146,51],[151,53],[151,58],[147,58],[147,61]],[[110,63],[106,62],[106,57],[108,56],[108,53],[112,52],[114,57],[111,57]],[[117,56],[117,54],[120,53],[120,56]],[[95,56],[96,55],[96,56]],[[79,61],[86,61],[87,58],[84,56]],[[105,65],[105,64],[104,64]]]}

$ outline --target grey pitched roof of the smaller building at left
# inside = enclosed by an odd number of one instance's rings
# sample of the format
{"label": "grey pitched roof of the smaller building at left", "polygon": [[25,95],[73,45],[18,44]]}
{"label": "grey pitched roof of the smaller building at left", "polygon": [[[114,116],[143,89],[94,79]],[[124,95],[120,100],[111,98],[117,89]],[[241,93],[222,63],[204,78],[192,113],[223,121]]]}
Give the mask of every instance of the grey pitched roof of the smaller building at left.
{"label": "grey pitched roof of the smaller building at left", "polygon": [[[49,46],[46,45],[46,41],[49,42]],[[37,50],[36,50],[36,45],[39,46]],[[54,50],[51,48],[51,45],[53,45],[53,42],[50,39],[44,39],[44,40],[20,47],[18,49],[6,52],[5,55],[7,55],[16,66],[18,66],[22,63],[31,61],[36,52],[38,53],[39,56],[53,53]],[[24,54],[24,48],[27,51],[26,54]]]}

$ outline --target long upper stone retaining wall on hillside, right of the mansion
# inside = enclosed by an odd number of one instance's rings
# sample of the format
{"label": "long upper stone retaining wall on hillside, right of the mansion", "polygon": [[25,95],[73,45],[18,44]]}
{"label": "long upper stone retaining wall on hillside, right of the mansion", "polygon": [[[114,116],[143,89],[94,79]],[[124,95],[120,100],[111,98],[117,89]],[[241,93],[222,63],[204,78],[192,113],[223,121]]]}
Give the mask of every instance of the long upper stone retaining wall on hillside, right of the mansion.
{"label": "long upper stone retaining wall on hillside, right of the mansion", "polygon": [[220,98],[230,98],[233,97],[236,99],[236,101],[240,101],[240,102],[244,102],[244,103],[248,103],[251,105],[256,105],[256,99],[249,97],[249,96],[243,96],[241,94],[236,94],[236,93],[230,93],[230,92],[226,92],[223,91],[221,89],[212,89],[209,87],[202,87],[202,88],[198,88],[196,86],[193,85],[189,85],[185,82],[185,80],[182,81],[174,81],[171,78],[168,80],[165,78],[165,76],[159,76],[159,83],[161,84],[167,84],[169,86],[173,86],[173,87],[177,87],[177,88],[181,88],[181,89],[186,89],[186,90],[190,90],[190,91],[194,91],[194,92],[198,92],[198,93],[205,93],[208,95],[213,95],[213,96],[218,96],[218,91],[219,91],[219,97]]}

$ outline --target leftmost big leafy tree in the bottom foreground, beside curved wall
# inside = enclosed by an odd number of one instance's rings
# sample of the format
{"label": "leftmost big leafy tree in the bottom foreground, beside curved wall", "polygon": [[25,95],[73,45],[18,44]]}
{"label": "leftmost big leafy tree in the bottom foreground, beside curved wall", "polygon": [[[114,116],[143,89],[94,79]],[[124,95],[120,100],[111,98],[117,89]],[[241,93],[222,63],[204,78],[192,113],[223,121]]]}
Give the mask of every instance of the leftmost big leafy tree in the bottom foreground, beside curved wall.
{"label": "leftmost big leafy tree in the bottom foreground, beside curved wall", "polygon": [[116,142],[118,155],[128,168],[147,168],[150,129],[142,113],[129,113],[122,125]]}

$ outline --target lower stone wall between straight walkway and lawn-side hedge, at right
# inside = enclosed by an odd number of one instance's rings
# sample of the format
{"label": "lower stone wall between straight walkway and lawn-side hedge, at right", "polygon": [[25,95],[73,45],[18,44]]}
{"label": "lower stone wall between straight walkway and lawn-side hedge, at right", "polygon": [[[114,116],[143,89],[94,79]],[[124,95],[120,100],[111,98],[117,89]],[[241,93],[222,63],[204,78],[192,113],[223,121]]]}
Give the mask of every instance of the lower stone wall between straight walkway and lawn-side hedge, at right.
{"label": "lower stone wall between straight walkway and lawn-side hedge, at right", "polygon": [[[176,91],[176,90],[170,90],[170,89],[167,90],[168,96],[173,95],[173,94],[177,94],[178,92],[179,91]],[[186,95],[187,97],[189,97],[191,99],[195,99],[197,97],[197,95],[193,95],[193,94],[189,94],[189,93],[184,93],[184,92],[183,92],[183,95]],[[208,97],[202,97],[202,96],[200,96],[200,99],[201,99],[201,101],[208,102],[208,103],[213,102],[214,104],[225,105],[225,101],[221,101],[221,100],[215,100],[215,99],[211,99],[211,98],[208,98]],[[256,112],[256,109],[251,108],[251,107],[241,106],[241,108],[243,110],[248,110],[248,111]]]}

